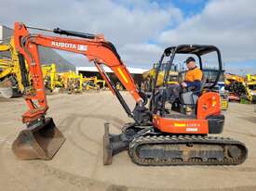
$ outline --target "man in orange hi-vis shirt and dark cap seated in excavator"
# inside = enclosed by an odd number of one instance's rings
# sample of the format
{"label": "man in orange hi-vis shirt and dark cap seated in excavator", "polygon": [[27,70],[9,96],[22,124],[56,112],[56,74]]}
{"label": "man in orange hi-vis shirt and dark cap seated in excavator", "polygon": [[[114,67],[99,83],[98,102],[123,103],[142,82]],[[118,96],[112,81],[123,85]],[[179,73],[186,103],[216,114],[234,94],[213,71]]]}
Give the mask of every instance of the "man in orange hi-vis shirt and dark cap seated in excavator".
{"label": "man in orange hi-vis shirt and dark cap seated in excavator", "polygon": [[175,100],[180,97],[183,89],[200,90],[203,72],[196,67],[194,57],[188,57],[185,62],[188,70],[185,73],[184,82],[181,84],[169,85],[166,90],[162,90],[162,92],[160,91],[159,94],[155,96],[156,108],[162,107],[163,102],[161,98],[163,97],[165,97],[166,101],[170,104],[173,104]]}

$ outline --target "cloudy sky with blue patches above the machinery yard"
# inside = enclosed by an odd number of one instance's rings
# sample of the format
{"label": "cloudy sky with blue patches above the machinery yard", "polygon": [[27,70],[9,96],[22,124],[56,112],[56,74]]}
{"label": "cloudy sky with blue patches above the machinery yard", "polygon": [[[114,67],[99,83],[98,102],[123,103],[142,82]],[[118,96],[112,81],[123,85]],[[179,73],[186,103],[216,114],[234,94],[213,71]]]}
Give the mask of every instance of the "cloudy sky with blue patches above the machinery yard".
{"label": "cloudy sky with blue patches above the machinery yard", "polygon": [[[256,73],[255,0],[0,0],[0,22],[103,33],[129,67],[152,67],[165,47],[216,45],[227,71]],[[61,54],[76,66],[82,57]]]}

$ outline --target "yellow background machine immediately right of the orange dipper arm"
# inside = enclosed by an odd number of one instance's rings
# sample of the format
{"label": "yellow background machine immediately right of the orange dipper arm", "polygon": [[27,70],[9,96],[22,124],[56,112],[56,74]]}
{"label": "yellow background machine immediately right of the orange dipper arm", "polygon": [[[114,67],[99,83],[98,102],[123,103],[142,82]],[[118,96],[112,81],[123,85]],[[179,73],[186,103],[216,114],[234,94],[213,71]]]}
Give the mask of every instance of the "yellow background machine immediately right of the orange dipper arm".
{"label": "yellow background machine immediately right of the orange dipper arm", "polygon": [[57,73],[54,63],[51,65],[42,65],[41,67],[45,86],[48,90],[52,92],[56,87],[63,87],[61,76]]}

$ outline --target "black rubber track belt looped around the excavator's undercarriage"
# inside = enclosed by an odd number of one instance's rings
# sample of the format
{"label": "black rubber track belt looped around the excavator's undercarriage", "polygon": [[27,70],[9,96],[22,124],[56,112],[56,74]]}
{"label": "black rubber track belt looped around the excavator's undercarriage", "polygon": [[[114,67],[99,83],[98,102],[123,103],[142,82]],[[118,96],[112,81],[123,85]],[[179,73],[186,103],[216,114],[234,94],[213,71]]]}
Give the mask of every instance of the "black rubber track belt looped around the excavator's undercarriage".
{"label": "black rubber track belt looped around the excavator's undercarriage", "polygon": [[[159,144],[169,145],[184,145],[184,144],[197,144],[206,146],[237,146],[241,150],[241,157],[238,159],[228,157],[227,152],[223,151],[224,158],[220,161],[217,159],[189,159],[183,161],[182,159],[140,159],[137,155],[138,149],[141,146]],[[224,150],[224,149],[223,149]],[[248,156],[247,147],[234,139],[214,137],[214,136],[201,136],[201,135],[151,135],[140,136],[135,138],[129,144],[129,156],[132,161],[142,166],[169,166],[169,165],[237,165],[242,163]]]}

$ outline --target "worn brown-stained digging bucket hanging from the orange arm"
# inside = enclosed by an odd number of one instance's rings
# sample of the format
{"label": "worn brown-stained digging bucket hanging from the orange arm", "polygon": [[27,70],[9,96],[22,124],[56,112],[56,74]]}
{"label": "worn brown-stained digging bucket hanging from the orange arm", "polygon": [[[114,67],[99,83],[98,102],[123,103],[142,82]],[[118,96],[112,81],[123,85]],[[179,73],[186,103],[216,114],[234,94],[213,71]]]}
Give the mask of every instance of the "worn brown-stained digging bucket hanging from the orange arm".
{"label": "worn brown-stained digging bucket hanging from the orange arm", "polygon": [[12,144],[18,159],[52,159],[61,148],[65,138],[52,118],[22,130]]}

